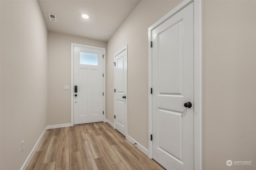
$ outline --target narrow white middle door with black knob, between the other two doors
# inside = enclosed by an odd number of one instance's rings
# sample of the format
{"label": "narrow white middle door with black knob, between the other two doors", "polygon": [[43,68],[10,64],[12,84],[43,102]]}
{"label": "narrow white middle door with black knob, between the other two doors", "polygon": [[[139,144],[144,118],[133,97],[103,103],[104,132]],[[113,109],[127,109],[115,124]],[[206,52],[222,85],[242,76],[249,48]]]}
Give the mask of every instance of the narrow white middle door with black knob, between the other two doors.
{"label": "narrow white middle door with black knob, between the other two doors", "polygon": [[127,129],[127,46],[114,55],[114,123],[126,137]]}

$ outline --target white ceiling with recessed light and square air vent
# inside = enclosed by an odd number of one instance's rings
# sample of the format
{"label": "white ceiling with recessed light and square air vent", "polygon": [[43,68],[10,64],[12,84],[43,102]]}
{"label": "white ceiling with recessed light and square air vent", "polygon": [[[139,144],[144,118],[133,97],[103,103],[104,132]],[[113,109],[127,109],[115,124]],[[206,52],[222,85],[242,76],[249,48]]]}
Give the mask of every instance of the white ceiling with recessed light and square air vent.
{"label": "white ceiling with recessed light and square air vent", "polygon": [[[48,31],[108,41],[140,0],[38,0]],[[48,18],[57,16],[57,22]],[[82,13],[90,16],[81,17]]]}

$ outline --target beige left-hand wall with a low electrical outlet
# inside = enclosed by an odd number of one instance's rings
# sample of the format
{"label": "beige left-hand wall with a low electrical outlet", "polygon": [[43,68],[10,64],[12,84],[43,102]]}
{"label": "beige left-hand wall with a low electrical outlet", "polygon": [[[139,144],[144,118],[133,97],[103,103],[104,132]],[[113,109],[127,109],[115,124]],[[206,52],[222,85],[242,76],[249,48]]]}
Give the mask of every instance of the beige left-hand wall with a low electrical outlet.
{"label": "beige left-hand wall with a low electrical outlet", "polygon": [[47,125],[47,29],[36,0],[0,3],[0,169],[18,170]]}

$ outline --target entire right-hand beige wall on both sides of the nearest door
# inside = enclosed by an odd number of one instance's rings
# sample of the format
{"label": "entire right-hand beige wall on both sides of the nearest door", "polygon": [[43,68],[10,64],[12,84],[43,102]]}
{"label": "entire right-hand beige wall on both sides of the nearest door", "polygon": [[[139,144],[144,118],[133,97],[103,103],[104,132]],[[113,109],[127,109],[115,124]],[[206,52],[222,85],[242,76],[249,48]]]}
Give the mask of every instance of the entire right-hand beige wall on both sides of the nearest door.
{"label": "entire right-hand beige wall on both sides of the nearest door", "polygon": [[[148,27],[179,2],[142,1],[108,41],[107,119],[113,120],[113,56],[128,44],[128,135],[147,148]],[[226,160],[256,168],[256,1],[202,2],[203,170]],[[152,12],[154,11],[154,12]]]}

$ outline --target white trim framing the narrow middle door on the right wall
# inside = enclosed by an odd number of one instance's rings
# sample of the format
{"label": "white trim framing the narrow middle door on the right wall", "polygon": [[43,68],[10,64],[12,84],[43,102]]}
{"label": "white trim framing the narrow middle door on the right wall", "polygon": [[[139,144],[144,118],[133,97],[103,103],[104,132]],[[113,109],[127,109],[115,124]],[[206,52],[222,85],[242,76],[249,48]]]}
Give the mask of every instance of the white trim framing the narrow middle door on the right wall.
{"label": "white trim framing the narrow middle door on the right wall", "polygon": [[[115,62],[115,57],[118,55],[118,54],[120,54],[120,53],[122,53],[123,51],[126,51],[126,89],[125,89],[125,92],[127,93],[127,58],[128,58],[128,45],[125,45],[124,47],[122,47],[122,49],[120,49],[117,53],[115,53],[115,55],[114,55],[114,61],[113,62]],[[114,89],[115,89],[115,69],[114,69]],[[113,90],[113,92],[114,92],[114,90]],[[127,97],[128,95],[126,94],[126,97]],[[125,108],[125,113],[124,113],[124,117],[125,117],[125,119],[126,119],[126,121],[125,121],[125,138],[127,139],[127,135],[128,135],[128,117],[127,117],[127,112],[128,112],[128,110],[127,110],[127,107],[128,107],[128,102],[127,102],[128,100],[126,100],[126,108]],[[115,92],[114,92],[114,104],[115,104]],[[115,115],[115,105],[114,105],[114,115]],[[116,129],[116,121],[114,120],[114,129]]]}

